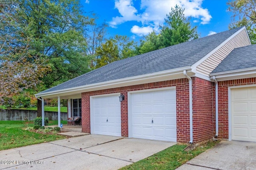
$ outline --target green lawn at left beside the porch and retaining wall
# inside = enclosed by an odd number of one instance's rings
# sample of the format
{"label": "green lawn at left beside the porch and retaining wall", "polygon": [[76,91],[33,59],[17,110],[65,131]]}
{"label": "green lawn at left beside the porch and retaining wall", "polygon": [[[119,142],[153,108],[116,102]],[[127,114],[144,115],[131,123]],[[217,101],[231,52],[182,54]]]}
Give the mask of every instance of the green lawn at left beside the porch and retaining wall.
{"label": "green lawn at left beside the porch and retaining wall", "polygon": [[[67,121],[61,123],[67,124]],[[58,121],[49,121],[48,125],[58,125]],[[34,122],[28,121],[26,126],[34,126]],[[60,135],[40,134],[24,129],[24,121],[0,121],[0,150],[65,139]]]}

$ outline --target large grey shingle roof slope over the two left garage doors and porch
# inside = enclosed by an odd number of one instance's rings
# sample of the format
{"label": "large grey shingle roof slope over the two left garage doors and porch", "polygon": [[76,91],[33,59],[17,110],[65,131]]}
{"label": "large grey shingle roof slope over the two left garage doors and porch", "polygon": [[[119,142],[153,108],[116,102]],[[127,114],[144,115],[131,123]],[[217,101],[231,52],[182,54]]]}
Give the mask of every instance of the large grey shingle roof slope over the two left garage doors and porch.
{"label": "large grey shingle roof slope over the two left garage doors and porch", "polygon": [[40,93],[191,66],[241,28],[115,61]]}

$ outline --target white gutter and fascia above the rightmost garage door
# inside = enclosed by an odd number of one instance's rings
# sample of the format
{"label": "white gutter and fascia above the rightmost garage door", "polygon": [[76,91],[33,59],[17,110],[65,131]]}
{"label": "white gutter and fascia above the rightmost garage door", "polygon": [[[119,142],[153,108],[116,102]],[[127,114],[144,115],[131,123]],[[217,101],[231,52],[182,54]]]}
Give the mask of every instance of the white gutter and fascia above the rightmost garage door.
{"label": "white gutter and fascia above the rightmost garage door", "polygon": [[252,78],[256,77],[256,67],[210,74],[211,79],[213,76],[218,81]]}

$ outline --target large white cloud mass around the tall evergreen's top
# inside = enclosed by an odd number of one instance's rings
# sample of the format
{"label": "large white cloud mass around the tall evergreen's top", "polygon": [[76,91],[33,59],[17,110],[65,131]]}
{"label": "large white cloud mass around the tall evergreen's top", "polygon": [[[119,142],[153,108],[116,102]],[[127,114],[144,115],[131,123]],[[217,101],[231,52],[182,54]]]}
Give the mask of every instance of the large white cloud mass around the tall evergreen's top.
{"label": "large white cloud mass around the tall evergreen's top", "polygon": [[138,35],[144,33],[145,28],[151,27],[152,30],[158,31],[158,25],[164,23],[166,14],[169,14],[176,4],[185,8],[184,15],[192,16],[193,22],[206,24],[212,18],[208,9],[202,7],[202,0],[141,0],[141,13],[138,13],[132,0],[116,0],[115,8],[118,9],[120,16],[113,17],[108,23],[110,27],[117,27],[126,21],[141,22],[142,27],[134,25],[131,29],[132,32],[138,31]]}

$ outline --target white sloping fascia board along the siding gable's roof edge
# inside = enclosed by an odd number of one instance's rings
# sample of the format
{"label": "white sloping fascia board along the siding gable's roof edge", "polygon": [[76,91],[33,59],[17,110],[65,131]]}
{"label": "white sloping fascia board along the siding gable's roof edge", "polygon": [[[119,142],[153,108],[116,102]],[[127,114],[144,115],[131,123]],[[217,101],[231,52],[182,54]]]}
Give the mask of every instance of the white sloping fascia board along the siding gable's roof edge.
{"label": "white sloping fascia board along the siding gable's roof edge", "polygon": [[[225,41],[223,41],[220,45],[218,45],[215,49],[213,49],[212,51],[210,51],[210,53],[208,53],[207,55],[205,55],[202,59],[198,60],[196,63],[194,63],[191,68],[192,70],[196,70],[196,67],[198,67],[202,62],[204,62],[206,59],[208,59],[208,57],[210,57],[213,53],[215,53],[216,51],[218,51],[218,49],[220,49],[220,47],[222,47],[223,45],[225,45],[230,39],[234,38],[238,33],[240,33],[242,30],[246,29],[246,27],[242,27],[241,29],[239,29],[238,31],[236,31],[234,34],[232,34],[230,37],[228,37],[228,39],[226,39]],[[249,39],[250,40],[250,39]]]}

